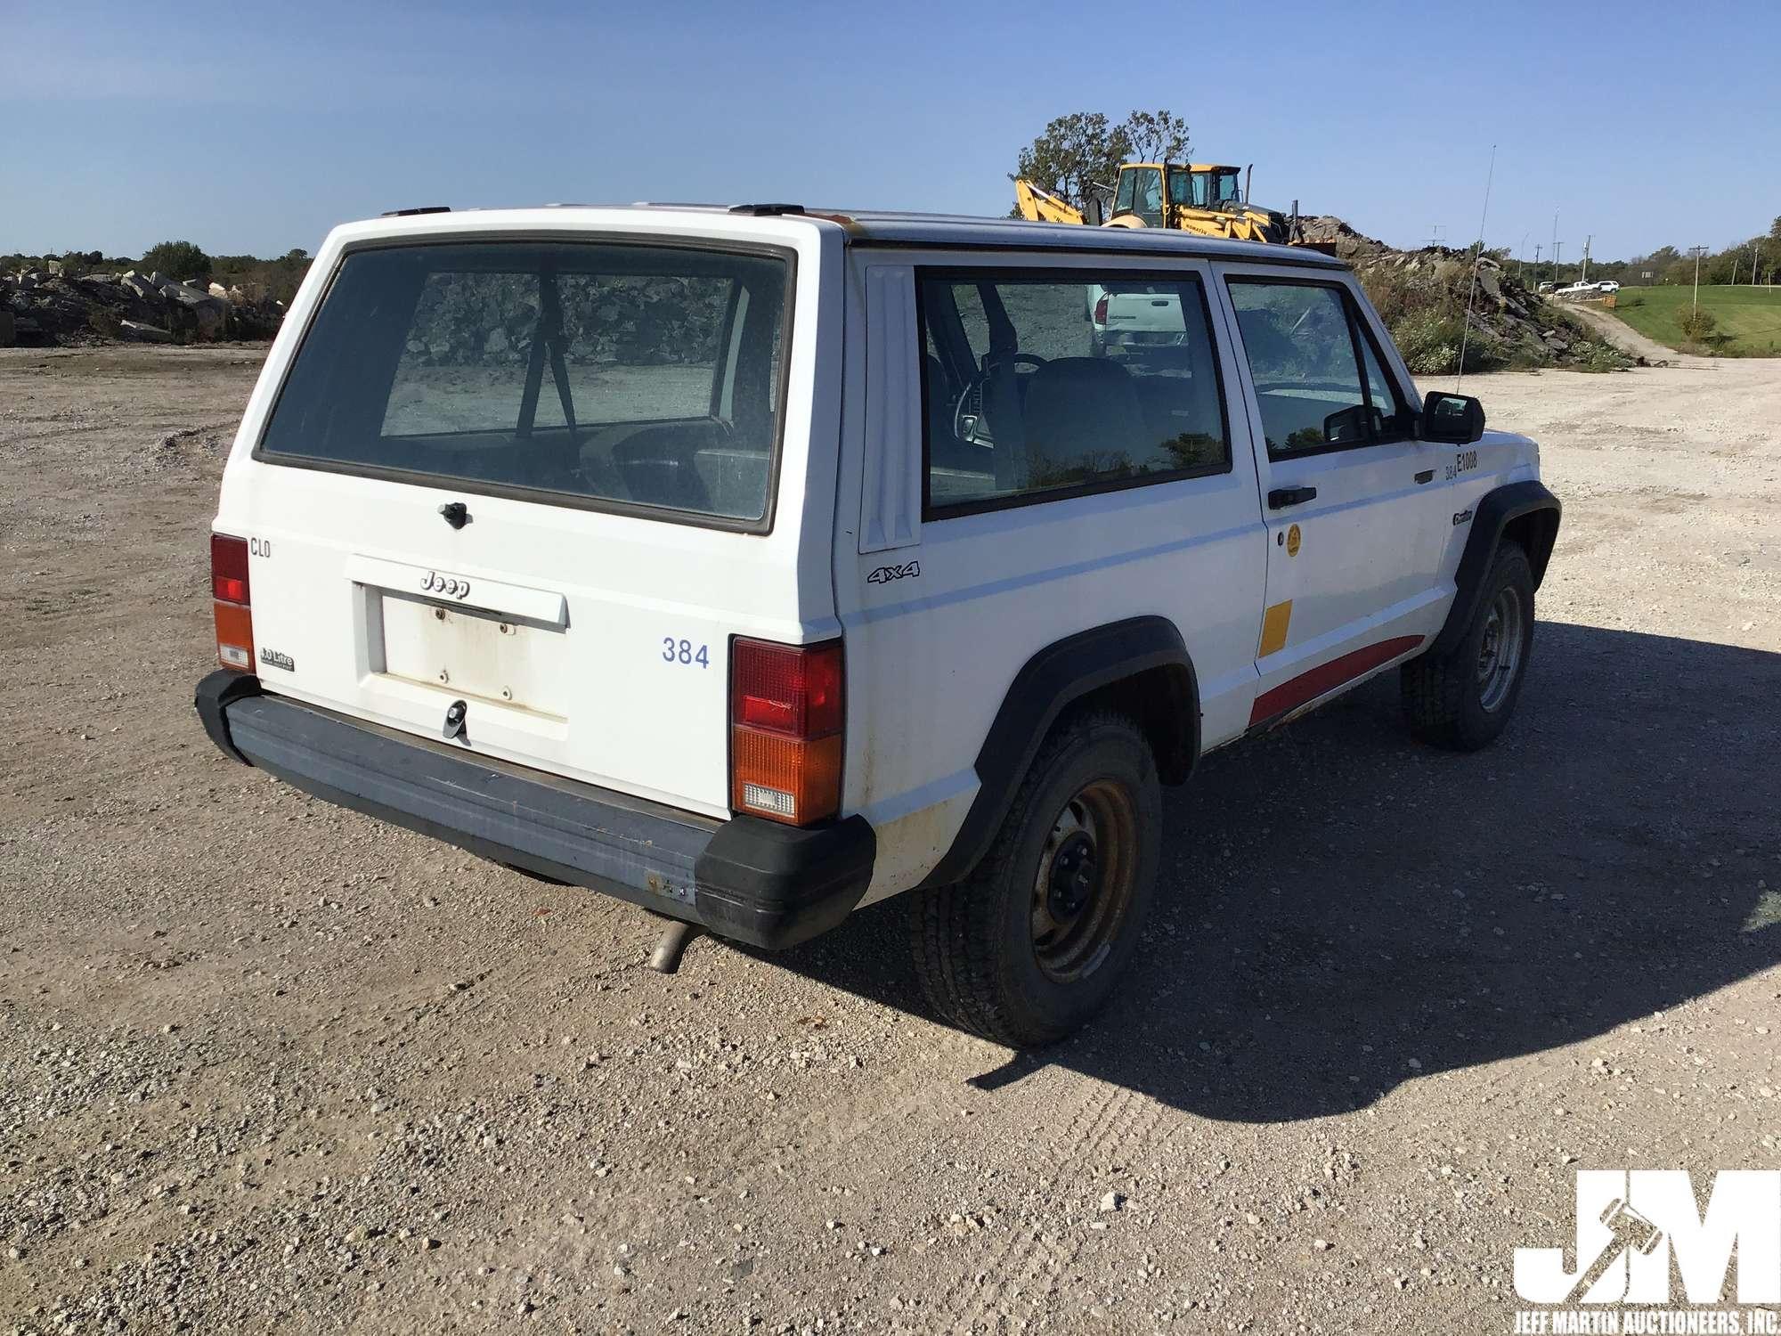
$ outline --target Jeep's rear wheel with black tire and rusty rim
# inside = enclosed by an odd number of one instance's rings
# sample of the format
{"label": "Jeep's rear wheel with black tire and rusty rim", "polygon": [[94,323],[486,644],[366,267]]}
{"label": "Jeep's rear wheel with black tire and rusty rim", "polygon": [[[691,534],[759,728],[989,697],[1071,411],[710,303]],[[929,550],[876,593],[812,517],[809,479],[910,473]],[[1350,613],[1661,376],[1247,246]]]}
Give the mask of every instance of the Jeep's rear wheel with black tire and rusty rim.
{"label": "Jeep's rear wheel with black tire and rusty rim", "polygon": [[1131,720],[1060,721],[976,869],[912,896],[915,973],[935,1012],[1012,1047],[1088,1021],[1143,935],[1161,825],[1156,759]]}

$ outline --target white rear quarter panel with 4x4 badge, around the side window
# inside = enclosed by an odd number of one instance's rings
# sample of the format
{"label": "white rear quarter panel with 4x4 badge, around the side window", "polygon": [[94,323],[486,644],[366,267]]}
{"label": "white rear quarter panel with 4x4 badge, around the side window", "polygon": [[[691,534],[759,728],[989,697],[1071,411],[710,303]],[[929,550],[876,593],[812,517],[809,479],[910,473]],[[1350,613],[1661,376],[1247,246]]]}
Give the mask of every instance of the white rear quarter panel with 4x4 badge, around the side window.
{"label": "white rear quarter panel with 4x4 badge, around the side window", "polygon": [[[850,321],[850,413],[842,440],[842,502],[860,495],[855,479],[907,479],[898,525],[915,542],[894,552],[876,543],[835,542],[835,609],[848,645],[848,803],[878,834],[867,901],[919,882],[951,846],[976,796],[972,762],[1021,666],[1047,645],[1108,622],[1161,615],[1186,641],[1200,684],[1208,746],[1238,737],[1256,693],[1256,625],[1266,581],[1266,529],[1256,493],[1250,424],[1229,344],[1220,376],[1231,406],[1232,467],[1122,492],[1044,501],[923,522],[914,273],[958,264],[944,251],[860,251],[850,285],[880,294]],[[972,269],[1029,267],[1031,257],[969,258]],[[1181,273],[1211,287],[1204,262],[1124,262],[1134,274]],[[1106,269],[1097,257],[1054,257],[1047,269]],[[1085,285],[1086,287],[1086,285]],[[1088,289],[1095,292],[1097,289]],[[1118,297],[1115,297],[1118,299]],[[1181,328],[1179,299],[1170,297]],[[890,342],[899,358],[880,356]],[[869,363],[869,365],[867,365]],[[876,381],[873,379],[876,372]],[[915,411],[901,433],[880,429],[871,406],[882,387],[907,385]],[[853,394],[858,383],[864,394]],[[860,533],[885,527],[883,492],[866,490]],[[873,579],[917,561],[912,579]]]}

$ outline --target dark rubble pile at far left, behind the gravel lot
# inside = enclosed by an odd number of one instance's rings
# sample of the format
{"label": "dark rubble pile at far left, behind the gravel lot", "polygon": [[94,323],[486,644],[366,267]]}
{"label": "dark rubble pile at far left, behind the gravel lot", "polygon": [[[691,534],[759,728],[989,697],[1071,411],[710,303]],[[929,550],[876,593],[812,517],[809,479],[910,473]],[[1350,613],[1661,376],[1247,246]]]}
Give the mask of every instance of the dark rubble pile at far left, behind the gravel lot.
{"label": "dark rubble pile at far left, behind the gravel lot", "polygon": [[135,269],[69,274],[57,260],[0,274],[0,346],[271,338],[283,319],[285,305],[256,285],[201,287]]}

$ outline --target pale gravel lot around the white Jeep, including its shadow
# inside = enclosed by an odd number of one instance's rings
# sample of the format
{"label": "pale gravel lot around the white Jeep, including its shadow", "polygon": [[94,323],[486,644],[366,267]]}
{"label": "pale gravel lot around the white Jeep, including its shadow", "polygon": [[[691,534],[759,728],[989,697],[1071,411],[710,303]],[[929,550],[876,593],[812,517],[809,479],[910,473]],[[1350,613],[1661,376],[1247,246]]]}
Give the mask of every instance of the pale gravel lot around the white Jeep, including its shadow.
{"label": "pale gravel lot around the white Jeep, including its shadow", "polygon": [[226,762],[256,360],[0,353],[0,1331],[1507,1332],[1578,1167],[1777,1163],[1777,363],[1473,381],[1567,506],[1510,732],[1375,682],[1216,755],[1120,1001],[1012,1060],[896,901],[664,978]]}

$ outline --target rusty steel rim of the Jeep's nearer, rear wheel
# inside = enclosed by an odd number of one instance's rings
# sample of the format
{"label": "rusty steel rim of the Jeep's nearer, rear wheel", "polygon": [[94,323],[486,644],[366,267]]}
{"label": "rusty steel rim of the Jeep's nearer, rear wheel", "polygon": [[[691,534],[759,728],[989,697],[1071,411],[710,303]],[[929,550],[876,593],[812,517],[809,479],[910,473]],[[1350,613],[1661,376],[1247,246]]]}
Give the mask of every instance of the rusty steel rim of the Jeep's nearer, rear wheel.
{"label": "rusty steel rim of the Jeep's nearer, rear wheel", "polygon": [[1063,803],[1029,907],[1033,958],[1045,978],[1072,983],[1108,958],[1131,912],[1136,848],[1138,811],[1122,784],[1094,780]]}

